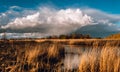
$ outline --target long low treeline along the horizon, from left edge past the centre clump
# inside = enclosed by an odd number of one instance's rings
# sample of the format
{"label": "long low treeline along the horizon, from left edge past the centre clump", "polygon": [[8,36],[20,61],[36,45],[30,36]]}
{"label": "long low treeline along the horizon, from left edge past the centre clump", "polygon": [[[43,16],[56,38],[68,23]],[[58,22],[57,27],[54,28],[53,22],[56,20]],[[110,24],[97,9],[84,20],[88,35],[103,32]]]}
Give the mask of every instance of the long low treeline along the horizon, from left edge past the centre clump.
{"label": "long low treeline along the horizon, from left edge past the centre clump", "polygon": [[67,35],[51,35],[43,38],[7,38],[4,36],[0,40],[35,40],[35,39],[101,39],[101,37],[91,37],[89,34],[67,34]]}

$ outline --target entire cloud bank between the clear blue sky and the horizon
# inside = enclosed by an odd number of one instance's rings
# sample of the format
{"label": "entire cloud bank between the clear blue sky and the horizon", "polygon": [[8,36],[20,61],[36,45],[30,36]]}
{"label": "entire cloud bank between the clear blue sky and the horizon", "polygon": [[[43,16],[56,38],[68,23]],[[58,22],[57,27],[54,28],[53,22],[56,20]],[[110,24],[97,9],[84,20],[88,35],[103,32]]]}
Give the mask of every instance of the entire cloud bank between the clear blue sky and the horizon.
{"label": "entire cloud bank between the clear blue sky and the horizon", "polygon": [[12,6],[7,12],[0,14],[0,31],[6,29],[9,37],[43,37],[71,32],[106,36],[103,32],[120,32],[118,22],[120,15],[92,8],[40,7],[29,10]]}

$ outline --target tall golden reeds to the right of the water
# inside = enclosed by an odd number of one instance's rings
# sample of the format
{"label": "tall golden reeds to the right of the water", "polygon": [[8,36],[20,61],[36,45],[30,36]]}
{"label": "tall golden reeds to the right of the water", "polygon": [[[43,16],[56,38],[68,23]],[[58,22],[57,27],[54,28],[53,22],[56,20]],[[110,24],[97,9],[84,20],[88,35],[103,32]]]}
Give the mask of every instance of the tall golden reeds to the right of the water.
{"label": "tall golden reeds to the right of the water", "polygon": [[120,49],[104,47],[85,52],[81,57],[79,72],[120,72]]}

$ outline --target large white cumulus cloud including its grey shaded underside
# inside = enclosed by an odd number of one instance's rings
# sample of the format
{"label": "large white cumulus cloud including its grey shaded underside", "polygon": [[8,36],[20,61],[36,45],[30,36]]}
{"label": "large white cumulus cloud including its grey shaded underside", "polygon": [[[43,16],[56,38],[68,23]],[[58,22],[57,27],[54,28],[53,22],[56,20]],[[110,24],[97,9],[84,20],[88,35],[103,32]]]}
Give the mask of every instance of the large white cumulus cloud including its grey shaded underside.
{"label": "large white cumulus cloud including its grey shaded underside", "polygon": [[83,14],[80,9],[57,10],[43,7],[33,14],[15,18],[1,28],[11,32],[64,34],[89,25],[91,22],[92,18]]}

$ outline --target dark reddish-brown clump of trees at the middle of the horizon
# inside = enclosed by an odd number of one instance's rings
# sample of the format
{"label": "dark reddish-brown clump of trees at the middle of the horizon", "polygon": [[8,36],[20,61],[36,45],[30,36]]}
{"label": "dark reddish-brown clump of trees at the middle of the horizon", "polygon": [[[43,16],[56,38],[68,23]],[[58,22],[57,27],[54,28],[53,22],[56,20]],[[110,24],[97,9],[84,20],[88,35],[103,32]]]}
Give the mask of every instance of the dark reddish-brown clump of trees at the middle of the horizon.
{"label": "dark reddish-brown clump of trees at the middle of the horizon", "polygon": [[46,39],[92,39],[89,34],[69,34],[69,35],[53,35],[53,36],[48,36]]}

